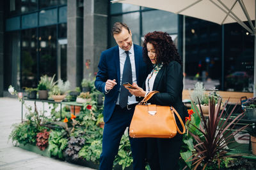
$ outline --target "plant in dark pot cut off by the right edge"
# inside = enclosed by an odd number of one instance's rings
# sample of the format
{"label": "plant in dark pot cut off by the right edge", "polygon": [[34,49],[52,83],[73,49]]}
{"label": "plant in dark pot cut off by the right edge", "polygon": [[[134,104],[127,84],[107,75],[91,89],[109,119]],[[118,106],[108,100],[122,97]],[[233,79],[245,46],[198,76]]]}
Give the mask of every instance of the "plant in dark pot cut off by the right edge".
{"label": "plant in dark pot cut off by the right edge", "polygon": [[256,120],[256,97],[251,97],[247,99],[245,103],[242,104],[245,110],[245,115],[250,120]]}

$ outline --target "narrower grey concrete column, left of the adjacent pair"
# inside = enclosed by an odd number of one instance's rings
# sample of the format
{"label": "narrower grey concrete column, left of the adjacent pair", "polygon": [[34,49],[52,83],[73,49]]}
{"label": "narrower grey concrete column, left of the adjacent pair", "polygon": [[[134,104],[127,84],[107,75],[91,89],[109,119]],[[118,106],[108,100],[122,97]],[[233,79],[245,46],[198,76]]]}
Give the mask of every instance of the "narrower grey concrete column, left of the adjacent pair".
{"label": "narrower grey concrete column, left of the adjacent pair", "polygon": [[83,7],[78,1],[67,1],[67,80],[72,89],[83,78]]}

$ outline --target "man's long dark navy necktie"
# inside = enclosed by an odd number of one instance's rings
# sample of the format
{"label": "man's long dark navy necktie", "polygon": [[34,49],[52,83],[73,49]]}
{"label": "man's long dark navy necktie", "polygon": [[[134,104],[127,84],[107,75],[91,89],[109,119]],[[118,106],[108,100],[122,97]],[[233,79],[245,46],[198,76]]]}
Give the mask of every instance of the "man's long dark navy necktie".
{"label": "man's long dark navy necktie", "polygon": [[[123,78],[122,78],[122,84],[129,82],[132,84],[132,66],[131,61],[129,57],[129,52],[126,51],[126,59],[124,62],[124,71],[123,71]],[[121,90],[120,90],[120,98],[119,98],[119,105],[121,108],[124,108],[127,105],[128,102],[128,96],[132,96],[131,93],[125,87],[121,84]]]}

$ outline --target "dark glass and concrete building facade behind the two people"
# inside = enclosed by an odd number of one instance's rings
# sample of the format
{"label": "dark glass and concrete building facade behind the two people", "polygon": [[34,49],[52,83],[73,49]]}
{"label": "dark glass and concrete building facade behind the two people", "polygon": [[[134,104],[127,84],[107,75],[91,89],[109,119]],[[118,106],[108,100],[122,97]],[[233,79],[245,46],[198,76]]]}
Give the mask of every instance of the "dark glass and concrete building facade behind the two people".
{"label": "dark glass and concrete building facade behind the two people", "polygon": [[172,36],[184,64],[184,88],[253,91],[254,38],[238,24],[218,25],[167,11],[100,0],[0,2],[0,96],[9,85],[36,87],[56,74],[72,88],[97,73],[102,50],[115,46],[113,23],[129,25],[134,43],[147,32]]}

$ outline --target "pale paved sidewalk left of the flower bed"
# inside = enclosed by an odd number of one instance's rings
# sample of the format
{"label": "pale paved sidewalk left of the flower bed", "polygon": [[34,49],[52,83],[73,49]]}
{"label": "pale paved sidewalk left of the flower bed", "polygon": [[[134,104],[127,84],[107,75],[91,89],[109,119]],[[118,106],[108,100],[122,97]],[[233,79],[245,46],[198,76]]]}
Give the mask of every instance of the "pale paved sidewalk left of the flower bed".
{"label": "pale paved sidewalk left of the flower bed", "polygon": [[[31,102],[33,104],[33,102]],[[40,103],[36,103],[40,108]],[[45,107],[46,108],[46,107]],[[12,124],[21,122],[21,103],[18,99],[0,97],[0,169],[84,169],[91,168],[70,164],[22,150],[8,142]]]}

